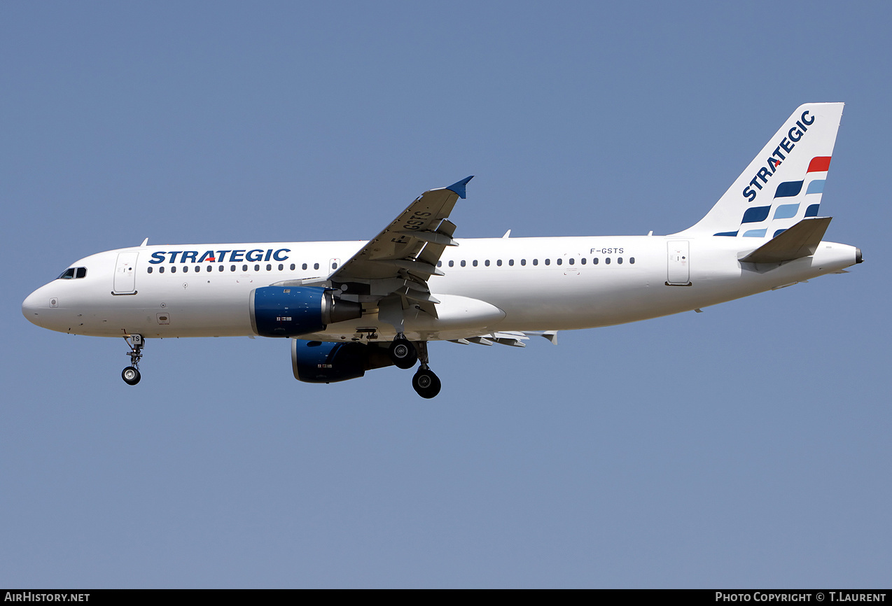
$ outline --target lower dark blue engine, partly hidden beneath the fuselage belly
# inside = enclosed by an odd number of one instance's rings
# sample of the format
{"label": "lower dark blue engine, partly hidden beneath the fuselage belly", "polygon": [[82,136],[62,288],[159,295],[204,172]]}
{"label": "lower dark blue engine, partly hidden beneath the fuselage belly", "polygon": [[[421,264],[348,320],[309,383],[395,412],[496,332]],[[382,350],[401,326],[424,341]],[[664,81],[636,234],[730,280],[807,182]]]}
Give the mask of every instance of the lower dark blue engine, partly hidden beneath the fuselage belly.
{"label": "lower dark blue engine, partly hidden beneath the fuselage belly", "polygon": [[294,378],[306,383],[359,379],[368,370],[390,366],[387,348],[376,343],[326,343],[294,339],[291,365]]}

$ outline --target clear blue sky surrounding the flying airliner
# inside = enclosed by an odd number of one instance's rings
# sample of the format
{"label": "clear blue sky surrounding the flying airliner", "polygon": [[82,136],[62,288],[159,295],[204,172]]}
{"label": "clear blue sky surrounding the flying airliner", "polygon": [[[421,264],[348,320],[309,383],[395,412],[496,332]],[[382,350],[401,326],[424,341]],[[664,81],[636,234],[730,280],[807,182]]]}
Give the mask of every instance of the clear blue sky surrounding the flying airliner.
{"label": "clear blue sky surrounding the flying airliner", "polygon": [[[0,4],[0,586],[888,586],[883,3]],[[673,233],[847,102],[794,288],[293,380],[279,340],[48,332],[153,243],[358,240],[475,175],[459,237]],[[534,287],[534,285],[533,285]],[[559,293],[556,293],[559,296]]]}

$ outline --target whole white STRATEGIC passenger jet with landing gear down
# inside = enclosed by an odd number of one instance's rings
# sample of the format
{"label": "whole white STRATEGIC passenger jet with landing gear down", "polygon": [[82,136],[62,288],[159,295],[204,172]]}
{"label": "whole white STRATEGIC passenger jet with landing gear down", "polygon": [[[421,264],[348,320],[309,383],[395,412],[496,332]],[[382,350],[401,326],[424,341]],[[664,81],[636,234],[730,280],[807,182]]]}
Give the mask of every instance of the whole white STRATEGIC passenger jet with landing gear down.
{"label": "whole white STRATEGIC passenger jet with landing gear down", "polygon": [[428,343],[523,347],[557,332],[635,322],[847,273],[860,249],[824,242],[819,217],[843,103],[806,103],[697,224],[655,236],[455,239],[468,176],[423,193],[356,242],[152,245],[82,258],[21,306],[31,323],[123,337],[140,381],[146,339],[291,340],[298,381],[356,379],[418,364]]}

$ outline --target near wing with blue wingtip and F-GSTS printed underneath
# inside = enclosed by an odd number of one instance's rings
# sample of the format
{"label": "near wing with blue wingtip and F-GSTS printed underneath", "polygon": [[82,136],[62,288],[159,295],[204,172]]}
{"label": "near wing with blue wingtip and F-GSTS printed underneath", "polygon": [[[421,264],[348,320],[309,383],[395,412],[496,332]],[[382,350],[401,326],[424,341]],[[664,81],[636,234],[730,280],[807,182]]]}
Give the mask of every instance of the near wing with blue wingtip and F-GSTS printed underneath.
{"label": "near wing with blue wingtip and F-GSTS printed underneath", "polygon": [[427,279],[442,275],[437,269],[442,251],[458,246],[452,240],[456,226],[449,215],[458,198],[465,198],[465,187],[472,178],[422,193],[326,282],[344,293],[369,299],[399,293],[425,303],[425,311],[432,312],[438,301],[431,296]]}

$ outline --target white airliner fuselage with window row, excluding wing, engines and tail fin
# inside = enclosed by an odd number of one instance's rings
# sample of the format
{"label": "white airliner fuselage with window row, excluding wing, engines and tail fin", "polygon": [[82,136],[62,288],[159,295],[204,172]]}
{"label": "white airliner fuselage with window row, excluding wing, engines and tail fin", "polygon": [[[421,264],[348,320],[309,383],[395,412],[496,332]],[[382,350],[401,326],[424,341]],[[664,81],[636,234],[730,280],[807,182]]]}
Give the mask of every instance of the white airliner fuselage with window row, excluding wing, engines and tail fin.
{"label": "white airliner fuselage with window row, excluding wing, engines and tail fin", "polygon": [[[428,280],[439,301],[439,317],[411,304],[404,309],[405,333],[411,340],[634,322],[739,299],[838,272],[856,262],[855,247],[821,242],[810,257],[776,266],[741,264],[741,253],[766,242],[762,238],[605,236],[457,242],[458,247],[442,254],[440,269],[445,275]],[[72,265],[86,268],[83,278],[57,279],[31,293],[22,313],[32,323],[72,334],[253,335],[249,313],[253,289],[289,280],[325,279],[364,243],[110,250]],[[195,254],[186,254],[189,251]],[[370,306],[361,318],[331,324],[305,338],[346,340],[376,334],[377,339],[392,340],[395,332]]]}

